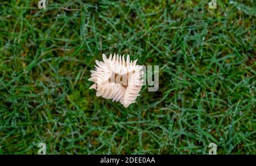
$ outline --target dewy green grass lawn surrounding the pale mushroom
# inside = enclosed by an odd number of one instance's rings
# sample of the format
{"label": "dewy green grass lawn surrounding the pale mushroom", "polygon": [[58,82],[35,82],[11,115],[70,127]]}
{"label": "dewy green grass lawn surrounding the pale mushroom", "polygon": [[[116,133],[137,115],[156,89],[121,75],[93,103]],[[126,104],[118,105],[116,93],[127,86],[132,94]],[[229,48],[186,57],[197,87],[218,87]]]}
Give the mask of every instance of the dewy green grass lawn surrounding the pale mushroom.
{"label": "dewy green grass lawn surrounding the pale mushroom", "polygon": [[[37,3],[0,2],[0,154],[256,153],[254,1]],[[96,97],[114,52],[159,65],[158,92]]]}

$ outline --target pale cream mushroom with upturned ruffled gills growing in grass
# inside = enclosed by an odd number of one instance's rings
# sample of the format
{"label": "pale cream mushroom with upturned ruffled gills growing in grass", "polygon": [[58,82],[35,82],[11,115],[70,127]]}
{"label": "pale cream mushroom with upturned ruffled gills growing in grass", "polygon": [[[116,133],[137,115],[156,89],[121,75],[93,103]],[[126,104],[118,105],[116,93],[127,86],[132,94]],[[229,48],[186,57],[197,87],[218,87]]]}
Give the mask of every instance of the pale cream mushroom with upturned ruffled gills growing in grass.
{"label": "pale cream mushroom with upturned ruffled gills growing in grass", "polygon": [[89,81],[95,82],[89,89],[97,90],[96,96],[119,101],[124,107],[135,103],[142,88],[141,65],[136,65],[137,60],[130,61],[130,56],[112,54],[109,58],[102,55],[103,61],[96,60],[95,70],[90,70]]}

